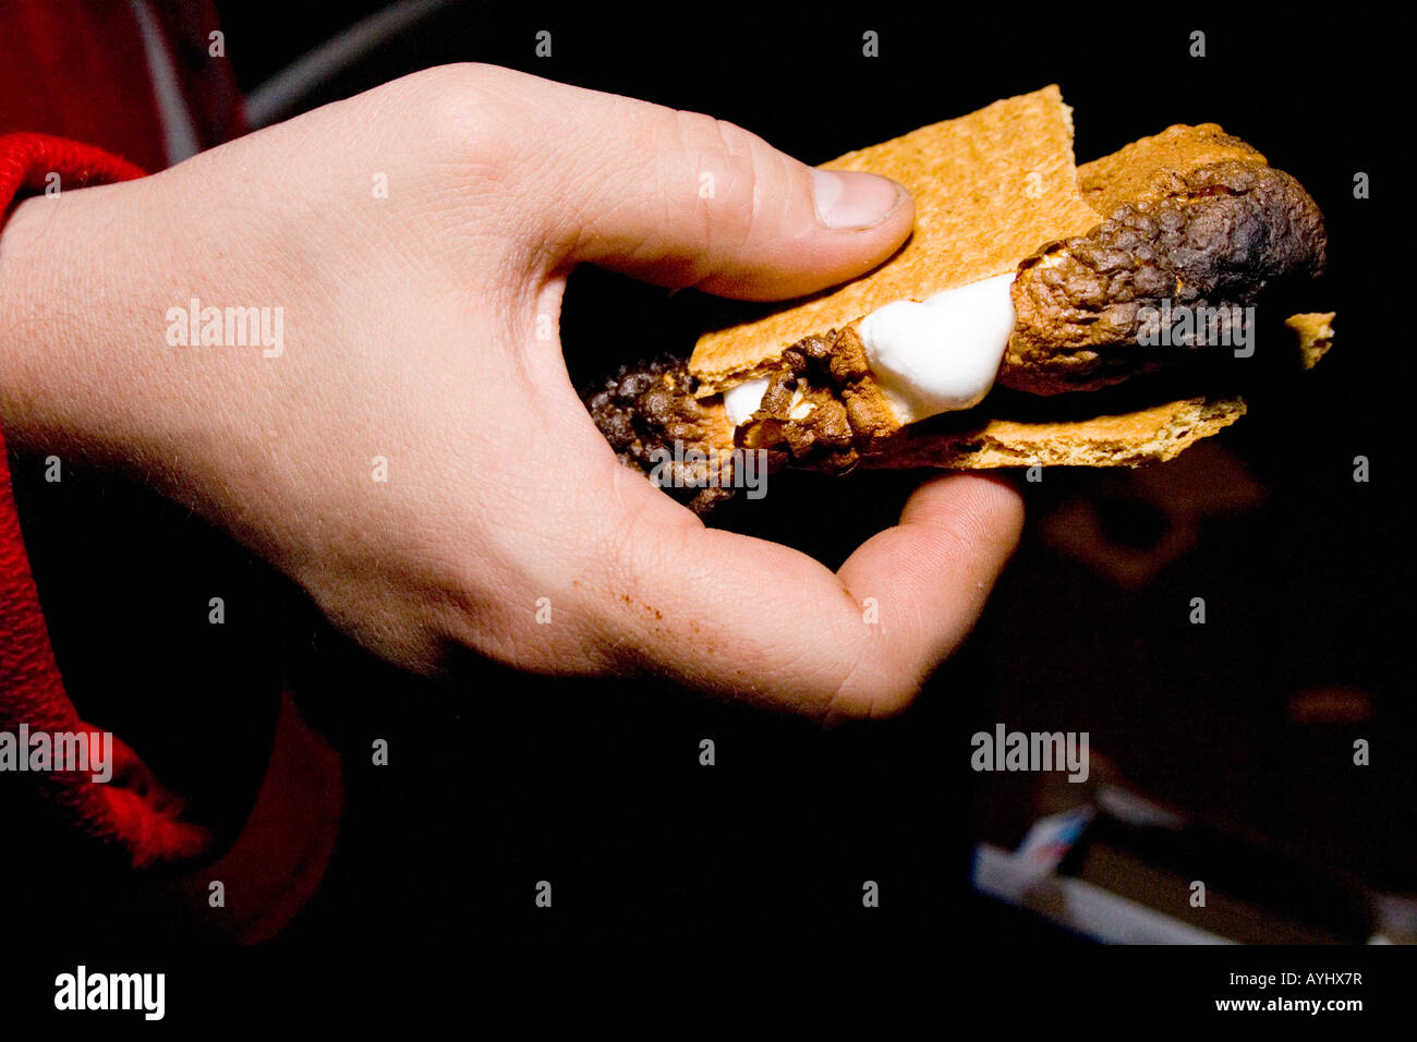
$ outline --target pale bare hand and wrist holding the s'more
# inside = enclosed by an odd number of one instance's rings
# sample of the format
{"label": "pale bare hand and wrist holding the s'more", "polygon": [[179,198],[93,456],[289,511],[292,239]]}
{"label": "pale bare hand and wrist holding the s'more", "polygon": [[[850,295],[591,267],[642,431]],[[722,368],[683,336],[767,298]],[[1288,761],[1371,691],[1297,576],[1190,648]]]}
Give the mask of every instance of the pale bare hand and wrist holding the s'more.
{"label": "pale bare hand and wrist holding the s'more", "polygon": [[[832,184],[708,116],[429,69],[20,204],[0,235],[0,417],[17,448],[98,461],[224,527],[407,669],[470,649],[887,716],[973,625],[1017,492],[925,481],[835,574],[707,529],[616,462],[537,316],[554,326],[580,262],[796,296],[888,257],[913,215],[893,181]],[[194,296],[283,308],[283,353],[169,346],[169,309]],[[622,337],[631,360],[632,322]]]}

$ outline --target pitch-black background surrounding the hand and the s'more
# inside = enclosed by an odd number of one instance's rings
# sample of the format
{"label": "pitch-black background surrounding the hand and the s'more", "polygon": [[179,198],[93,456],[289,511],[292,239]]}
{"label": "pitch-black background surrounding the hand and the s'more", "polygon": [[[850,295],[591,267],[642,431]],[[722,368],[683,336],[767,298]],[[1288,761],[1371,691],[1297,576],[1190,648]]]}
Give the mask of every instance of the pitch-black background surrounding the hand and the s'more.
{"label": "pitch-black background surrounding the hand and the s'more", "polygon": [[[378,4],[218,7],[251,88]],[[541,28],[553,33],[548,60],[534,57]],[[860,52],[867,28],[880,34],[874,60]],[[1206,58],[1187,57],[1193,28],[1207,34]],[[239,778],[241,750],[269,727],[275,678],[296,678],[306,716],[347,753],[350,792],[340,853],[285,944],[388,953],[384,941],[465,944],[492,931],[553,946],[666,930],[686,944],[755,944],[825,927],[871,951],[1076,946],[969,889],[973,842],[1012,846],[1039,812],[1036,778],[969,770],[969,736],[996,722],[1090,732],[1094,771],[1105,757],[1108,777],[1325,878],[1417,893],[1414,727],[1399,672],[1410,557],[1397,506],[1410,478],[1396,431],[1408,407],[1406,346],[1391,333],[1406,325],[1403,190],[1384,145],[1406,128],[1389,101],[1389,44],[1384,27],[1342,13],[1304,23],[1091,9],[969,17],[934,4],[774,21],[721,4],[650,17],[456,6],[312,101],[486,61],[710,112],[819,163],[1058,82],[1078,162],[1175,122],[1213,121],[1297,176],[1328,221],[1329,275],[1308,309],[1338,312],[1336,347],[1254,403],[1178,478],[1179,492],[1158,493],[1165,478],[1139,486],[1074,471],[1026,486],[1023,546],[976,632],[896,720],[823,732],[659,683],[546,680],[475,662],[456,682],[419,682],[350,648],[281,580],[179,510],[108,485],[45,508],[20,489],[23,508],[45,512],[35,570],[75,699],[143,690],[154,729],[177,706],[191,726],[221,720]],[[1352,197],[1359,170],[1373,198]],[[639,319],[631,342],[598,340],[597,319],[622,315]],[[582,269],[564,315],[572,371],[594,379],[626,352],[687,350],[693,315],[693,302]],[[1352,481],[1356,455],[1370,458],[1370,483]],[[714,523],[836,567],[894,522],[917,478],[846,481],[843,495],[812,475],[774,476],[771,496],[734,502]],[[1237,481],[1260,489],[1257,502],[1204,506]],[[92,532],[98,500],[112,534]],[[1102,556],[1145,554],[1176,523],[1178,503],[1200,505],[1195,536],[1135,588],[1047,525],[1081,509],[1107,537]],[[27,522],[27,537],[40,527]],[[146,534],[135,540],[136,530]],[[77,553],[78,532],[89,549]],[[210,583],[190,577],[194,561],[204,576],[227,568],[252,607],[220,637],[177,607],[205,603]],[[72,607],[135,580],[147,593],[139,604],[123,593],[120,620],[95,627]],[[1204,627],[1187,622],[1196,595],[1207,601]],[[1339,692],[1340,719],[1302,710],[1314,690]],[[367,766],[374,737],[390,739],[393,767]],[[704,737],[717,743],[711,770],[697,764]],[[1365,770],[1350,766],[1355,737],[1373,746]],[[198,790],[210,767],[180,753],[166,764]],[[239,788],[208,798],[238,808]],[[551,914],[533,907],[540,879],[554,882]],[[864,879],[881,886],[879,910],[860,906]],[[1289,899],[1295,914],[1305,900]],[[122,919],[120,904],[105,914]]]}

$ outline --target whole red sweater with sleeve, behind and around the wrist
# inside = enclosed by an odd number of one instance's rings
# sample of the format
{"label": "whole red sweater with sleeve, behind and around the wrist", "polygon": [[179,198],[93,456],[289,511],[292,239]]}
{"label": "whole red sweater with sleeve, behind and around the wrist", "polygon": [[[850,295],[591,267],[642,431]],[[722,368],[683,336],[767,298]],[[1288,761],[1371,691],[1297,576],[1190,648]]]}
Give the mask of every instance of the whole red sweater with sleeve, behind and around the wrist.
{"label": "whole red sweater with sleeve, behind and around the wrist", "polygon": [[[167,164],[162,105],[149,72],[153,45],[166,55],[169,82],[186,102],[198,147],[244,129],[230,65],[208,54],[217,26],[210,3],[156,1],[147,10],[154,35],[145,44],[129,4],[0,6],[0,214],[43,190],[51,173],[68,191],[142,177],[145,169]],[[0,427],[0,732],[20,734],[21,727],[31,734],[98,730],[82,722],[55,665]],[[181,800],[157,783],[120,736],[113,751],[113,778],[106,784],[92,781],[91,773],[24,777],[48,814],[92,842],[122,851],[135,870],[204,859],[201,870],[164,882],[196,913],[207,906],[207,880],[238,882],[245,910],[215,924],[228,937],[271,936],[313,892],[333,845],[339,768],[289,699],[255,809],[228,851],[213,849],[213,834],[183,818]],[[0,781],[7,781],[4,774]]]}

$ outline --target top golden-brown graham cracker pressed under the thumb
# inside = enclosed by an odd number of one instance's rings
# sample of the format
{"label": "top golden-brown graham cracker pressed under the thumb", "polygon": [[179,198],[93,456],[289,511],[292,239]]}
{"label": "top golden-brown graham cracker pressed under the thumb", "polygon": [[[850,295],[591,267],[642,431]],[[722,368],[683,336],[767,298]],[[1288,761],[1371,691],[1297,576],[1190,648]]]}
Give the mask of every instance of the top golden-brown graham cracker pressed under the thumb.
{"label": "top golden-brown graham cracker pressed under the thumb", "polygon": [[842,329],[894,301],[1003,275],[1044,242],[1098,223],[1073,163],[1071,109],[1057,85],[1006,98],[822,164],[894,177],[915,197],[915,230],[859,279],[704,333],[689,371],[701,397],[751,379],[805,336]]}

